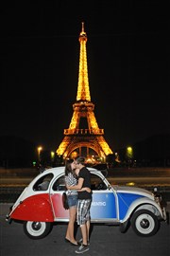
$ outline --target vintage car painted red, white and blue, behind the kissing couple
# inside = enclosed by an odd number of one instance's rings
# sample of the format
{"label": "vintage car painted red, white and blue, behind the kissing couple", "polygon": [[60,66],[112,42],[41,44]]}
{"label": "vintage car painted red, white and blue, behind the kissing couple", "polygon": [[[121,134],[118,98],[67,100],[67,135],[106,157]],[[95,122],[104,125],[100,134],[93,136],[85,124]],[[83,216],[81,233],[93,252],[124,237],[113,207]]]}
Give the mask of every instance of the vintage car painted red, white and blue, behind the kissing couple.
{"label": "vintage car painted red, white and blue, behind the kissing couple", "polygon": [[[136,234],[151,236],[160,229],[161,221],[166,221],[161,195],[135,187],[111,186],[102,171],[88,170],[93,192],[92,223],[119,225],[122,233],[131,226]],[[69,210],[62,203],[65,190],[64,167],[38,174],[10,208],[6,220],[22,221],[31,239],[45,237],[54,223],[69,221]]]}

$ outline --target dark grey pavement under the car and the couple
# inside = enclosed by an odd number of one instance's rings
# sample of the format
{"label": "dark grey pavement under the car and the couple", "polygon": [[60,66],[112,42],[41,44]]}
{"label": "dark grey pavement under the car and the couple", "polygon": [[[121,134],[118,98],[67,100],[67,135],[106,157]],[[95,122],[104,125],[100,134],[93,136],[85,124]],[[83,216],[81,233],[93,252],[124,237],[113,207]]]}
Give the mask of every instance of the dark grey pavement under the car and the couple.
{"label": "dark grey pavement under the car and the couple", "polygon": [[[1,256],[75,256],[76,247],[64,242],[67,224],[56,225],[51,233],[41,240],[26,237],[21,223],[5,221],[10,204],[1,204],[0,255]],[[170,210],[170,203],[168,203]],[[77,231],[76,238],[80,234]],[[125,234],[118,227],[94,225],[90,250],[86,256],[169,256],[170,226],[161,223],[161,229],[152,237],[137,236],[132,229]]]}

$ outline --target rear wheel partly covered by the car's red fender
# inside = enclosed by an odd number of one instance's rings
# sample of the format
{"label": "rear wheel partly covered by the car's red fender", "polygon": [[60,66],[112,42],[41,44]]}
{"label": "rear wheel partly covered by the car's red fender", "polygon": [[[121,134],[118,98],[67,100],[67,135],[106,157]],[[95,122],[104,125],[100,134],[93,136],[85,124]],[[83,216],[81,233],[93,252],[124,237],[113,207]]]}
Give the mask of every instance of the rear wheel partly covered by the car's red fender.
{"label": "rear wheel partly covered by the car's red fender", "polygon": [[36,221],[26,221],[24,223],[24,231],[26,235],[31,239],[42,239],[52,229],[52,224],[50,222],[36,222]]}

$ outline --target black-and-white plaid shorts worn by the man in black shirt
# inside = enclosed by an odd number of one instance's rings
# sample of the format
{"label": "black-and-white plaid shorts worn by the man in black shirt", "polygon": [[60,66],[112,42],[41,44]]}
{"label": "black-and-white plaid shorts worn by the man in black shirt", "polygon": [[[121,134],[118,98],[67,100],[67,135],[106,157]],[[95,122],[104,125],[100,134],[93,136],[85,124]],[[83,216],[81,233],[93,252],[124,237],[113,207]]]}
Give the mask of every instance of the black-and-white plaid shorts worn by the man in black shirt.
{"label": "black-and-white plaid shorts worn by the man in black shirt", "polygon": [[91,215],[90,215],[90,208],[91,208],[91,199],[83,199],[79,200],[77,203],[77,224],[78,225],[83,225],[87,221],[91,220]]}

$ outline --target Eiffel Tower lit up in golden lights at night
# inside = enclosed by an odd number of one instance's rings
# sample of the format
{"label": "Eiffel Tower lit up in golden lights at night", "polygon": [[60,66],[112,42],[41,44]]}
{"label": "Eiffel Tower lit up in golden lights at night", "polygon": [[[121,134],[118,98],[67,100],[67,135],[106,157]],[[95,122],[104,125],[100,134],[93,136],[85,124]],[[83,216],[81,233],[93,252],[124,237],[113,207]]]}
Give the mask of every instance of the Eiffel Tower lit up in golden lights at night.
{"label": "Eiffel Tower lit up in golden lights at night", "polygon": [[64,129],[64,138],[56,151],[57,155],[63,158],[70,157],[74,153],[83,155],[83,149],[86,150],[86,157],[90,152],[105,160],[106,155],[113,154],[104,136],[104,129],[99,129],[95,119],[93,109],[94,104],[91,101],[86,43],[87,34],[84,31],[84,23],[79,34],[80,54],[79,54],[79,73],[76,94],[76,103],[73,104],[73,117],[68,129]]}

